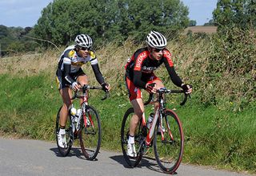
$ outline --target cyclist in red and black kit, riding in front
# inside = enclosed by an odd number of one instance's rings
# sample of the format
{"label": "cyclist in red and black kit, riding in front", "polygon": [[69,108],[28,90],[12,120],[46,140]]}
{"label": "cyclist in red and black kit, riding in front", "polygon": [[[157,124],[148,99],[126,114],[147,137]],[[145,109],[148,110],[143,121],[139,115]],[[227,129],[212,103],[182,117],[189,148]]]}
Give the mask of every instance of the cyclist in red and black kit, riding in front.
{"label": "cyclist in red and black kit, riding in front", "polygon": [[144,112],[140,89],[143,88],[147,92],[156,93],[157,89],[164,88],[162,80],[154,75],[154,70],[164,63],[172,82],[185,90],[186,93],[192,92],[190,85],[184,84],[174,70],[171,53],[166,49],[166,37],[162,33],[151,31],[146,37],[146,43],[147,47],[138,49],[125,66],[126,88],[128,89],[130,103],[133,105],[135,113],[130,121],[130,135],[127,145],[127,154],[131,157],[136,157],[134,132]]}

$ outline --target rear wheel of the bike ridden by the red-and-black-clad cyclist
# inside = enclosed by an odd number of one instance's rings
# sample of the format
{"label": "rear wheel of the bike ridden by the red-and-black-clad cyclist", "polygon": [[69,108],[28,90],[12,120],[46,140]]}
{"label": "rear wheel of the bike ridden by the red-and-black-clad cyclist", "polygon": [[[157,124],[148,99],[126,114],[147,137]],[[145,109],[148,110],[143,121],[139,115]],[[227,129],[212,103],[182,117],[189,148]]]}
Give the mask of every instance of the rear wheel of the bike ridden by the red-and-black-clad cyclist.
{"label": "rear wheel of the bike ridden by the red-and-black-clad cyclist", "polygon": [[138,123],[138,127],[136,127],[135,135],[134,135],[134,144],[137,150],[137,157],[131,158],[127,155],[127,144],[129,137],[129,128],[130,128],[130,119],[134,115],[134,108],[129,108],[122,119],[122,127],[121,127],[121,145],[122,145],[122,154],[130,167],[138,166],[138,163],[142,160],[142,152],[139,150],[139,143],[142,138],[142,128],[141,123],[142,120]]}

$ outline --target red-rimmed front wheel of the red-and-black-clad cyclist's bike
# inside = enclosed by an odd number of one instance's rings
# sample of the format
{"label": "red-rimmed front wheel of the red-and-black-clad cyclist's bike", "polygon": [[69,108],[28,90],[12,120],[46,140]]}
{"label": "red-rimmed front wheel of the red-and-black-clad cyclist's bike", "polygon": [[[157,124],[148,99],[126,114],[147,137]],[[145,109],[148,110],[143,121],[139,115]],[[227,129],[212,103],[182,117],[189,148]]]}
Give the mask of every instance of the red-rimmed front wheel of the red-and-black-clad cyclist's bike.
{"label": "red-rimmed front wheel of the red-and-black-clad cyclist's bike", "polygon": [[162,135],[158,132],[158,125],[154,131],[154,155],[161,170],[173,174],[182,162],[184,147],[182,123],[174,111],[166,110],[163,114],[162,126]]}

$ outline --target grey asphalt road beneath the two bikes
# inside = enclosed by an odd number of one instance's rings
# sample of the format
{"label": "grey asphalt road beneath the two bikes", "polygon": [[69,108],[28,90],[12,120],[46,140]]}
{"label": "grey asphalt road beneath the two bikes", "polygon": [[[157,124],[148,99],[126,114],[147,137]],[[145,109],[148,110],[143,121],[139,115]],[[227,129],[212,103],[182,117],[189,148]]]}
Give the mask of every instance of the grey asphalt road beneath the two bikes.
{"label": "grey asphalt road beneath the two bikes", "polygon": [[[166,175],[150,158],[142,158],[137,168],[129,168],[122,153],[100,151],[96,161],[86,160],[79,148],[71,149],[63,158],[58,154],[56,143],[27,139],[3,139],[0,137],[0,176],[35,175],[104,175],[104,176],[158,176]],[[223,170],[199,166],[181,165],[178,176],[238,176]]]}

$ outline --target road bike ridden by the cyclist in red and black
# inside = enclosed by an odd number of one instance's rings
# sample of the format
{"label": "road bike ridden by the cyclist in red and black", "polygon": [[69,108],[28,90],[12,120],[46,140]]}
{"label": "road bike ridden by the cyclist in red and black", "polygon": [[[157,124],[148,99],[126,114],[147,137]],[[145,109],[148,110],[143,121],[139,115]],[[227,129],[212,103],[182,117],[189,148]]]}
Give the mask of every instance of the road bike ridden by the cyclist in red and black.
{"label": "road bike ridden by the cyclist in red and black", "polygon": [[[159,106],[154,113],[154,119],[150,123],[150,128],[146,127],[145,113],[143,113],[134,135],[134,145],[136,148],[136,157],[130,157],[126,154],[130,131],[130,119],[134,115],[134,108],[129,108],[123,119],[121,128],[122,154],[131,167],[138,166],[143,154],[146,154],[150,147],[154,146],[154,156],[160,169],[168,174],[174,174],[182,161],[184,148],[184,135],[182,123],[178,115],[170,109],[166,109],[164,100],[165,94],[184,93],[184,99],[181,105],[184,105],[188,94],[183,90],[169,90],[160,88],[157,90]],[[152,94],[144,105],[152,102]]]}

